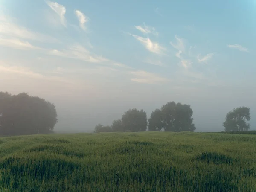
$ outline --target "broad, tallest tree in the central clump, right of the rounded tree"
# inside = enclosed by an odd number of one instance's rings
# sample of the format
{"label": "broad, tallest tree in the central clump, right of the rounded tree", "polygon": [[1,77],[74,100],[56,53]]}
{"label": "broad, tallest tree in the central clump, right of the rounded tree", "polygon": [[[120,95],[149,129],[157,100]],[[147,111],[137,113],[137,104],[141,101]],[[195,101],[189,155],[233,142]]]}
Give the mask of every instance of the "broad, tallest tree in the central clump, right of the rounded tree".
{"label": "broad, tallest tree in the central clump, right of the rounded tree", "polygon": [[161,110],[152,112],[148,128],[151,131],[195,131],[192,115],[190,105],[168,102]]}

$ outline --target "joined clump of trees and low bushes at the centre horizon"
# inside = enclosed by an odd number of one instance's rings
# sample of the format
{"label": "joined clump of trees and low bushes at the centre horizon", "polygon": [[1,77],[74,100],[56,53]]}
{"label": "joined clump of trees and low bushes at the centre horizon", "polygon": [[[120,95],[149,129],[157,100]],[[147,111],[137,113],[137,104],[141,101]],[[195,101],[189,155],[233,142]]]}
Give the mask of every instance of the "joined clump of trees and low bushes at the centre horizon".
{"label": "joined clump of trees and low bushes at the centre horizon", "polygon": [[145,111],[129,109],[111,126],[96,125],[94,132],[140,132],[146,131],[147,127],[148,131],[195,131],[192,115],[190,105],[168,102],[153,111],[149,119]]}

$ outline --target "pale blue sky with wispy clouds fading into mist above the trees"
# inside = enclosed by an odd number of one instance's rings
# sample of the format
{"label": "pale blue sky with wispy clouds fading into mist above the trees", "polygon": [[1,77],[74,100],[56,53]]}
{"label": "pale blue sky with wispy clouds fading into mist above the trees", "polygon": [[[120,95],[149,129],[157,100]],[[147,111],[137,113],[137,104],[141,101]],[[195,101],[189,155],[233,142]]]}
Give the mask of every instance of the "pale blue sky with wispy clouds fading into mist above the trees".
{"label": "pale blue sky with wispy clouds fading into mist above the trees", "polygon": [[256,0],[0,0],[0,90],[56,105],[56,130],[191,105],[196,131],[250,107]]}

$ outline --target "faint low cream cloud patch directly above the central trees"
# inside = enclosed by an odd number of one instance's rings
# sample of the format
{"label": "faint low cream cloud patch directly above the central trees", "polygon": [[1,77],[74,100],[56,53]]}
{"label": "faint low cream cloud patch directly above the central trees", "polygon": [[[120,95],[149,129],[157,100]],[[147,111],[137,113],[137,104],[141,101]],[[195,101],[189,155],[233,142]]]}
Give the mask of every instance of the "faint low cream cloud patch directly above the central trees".
{"label": "faint low cream cloud patch directly above the central trees", "polygon": [[143,70],[132,71],[130,73],[135,76],[134,78],[131,79],[131,81],[135,81],[138,83],[155,84],[155,83],[165,82],[169,80],[169,79],[157,76],[154,73],[149,73]]}

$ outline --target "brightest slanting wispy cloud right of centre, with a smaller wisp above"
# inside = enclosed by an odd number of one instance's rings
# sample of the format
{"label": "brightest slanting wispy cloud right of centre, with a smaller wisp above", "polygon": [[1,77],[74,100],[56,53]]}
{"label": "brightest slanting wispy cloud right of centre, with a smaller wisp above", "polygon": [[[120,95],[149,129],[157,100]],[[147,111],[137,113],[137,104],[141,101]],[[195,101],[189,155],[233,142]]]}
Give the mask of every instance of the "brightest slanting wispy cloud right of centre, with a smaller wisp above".
{"label": "brightest slanting wispy cloud right of centre, with a smaller wisp above", "polygon": [[153,52],[158,55],[162,55],[163,51],[166,50],[164,47],[160,46],[159,43],[151,41],[150,38],[143,38],[133,34],[129,34],[129,35],[133,36],[138,41],[140,41],[140,43],[143,44],[145,48],[148,49],[150,52]]}

